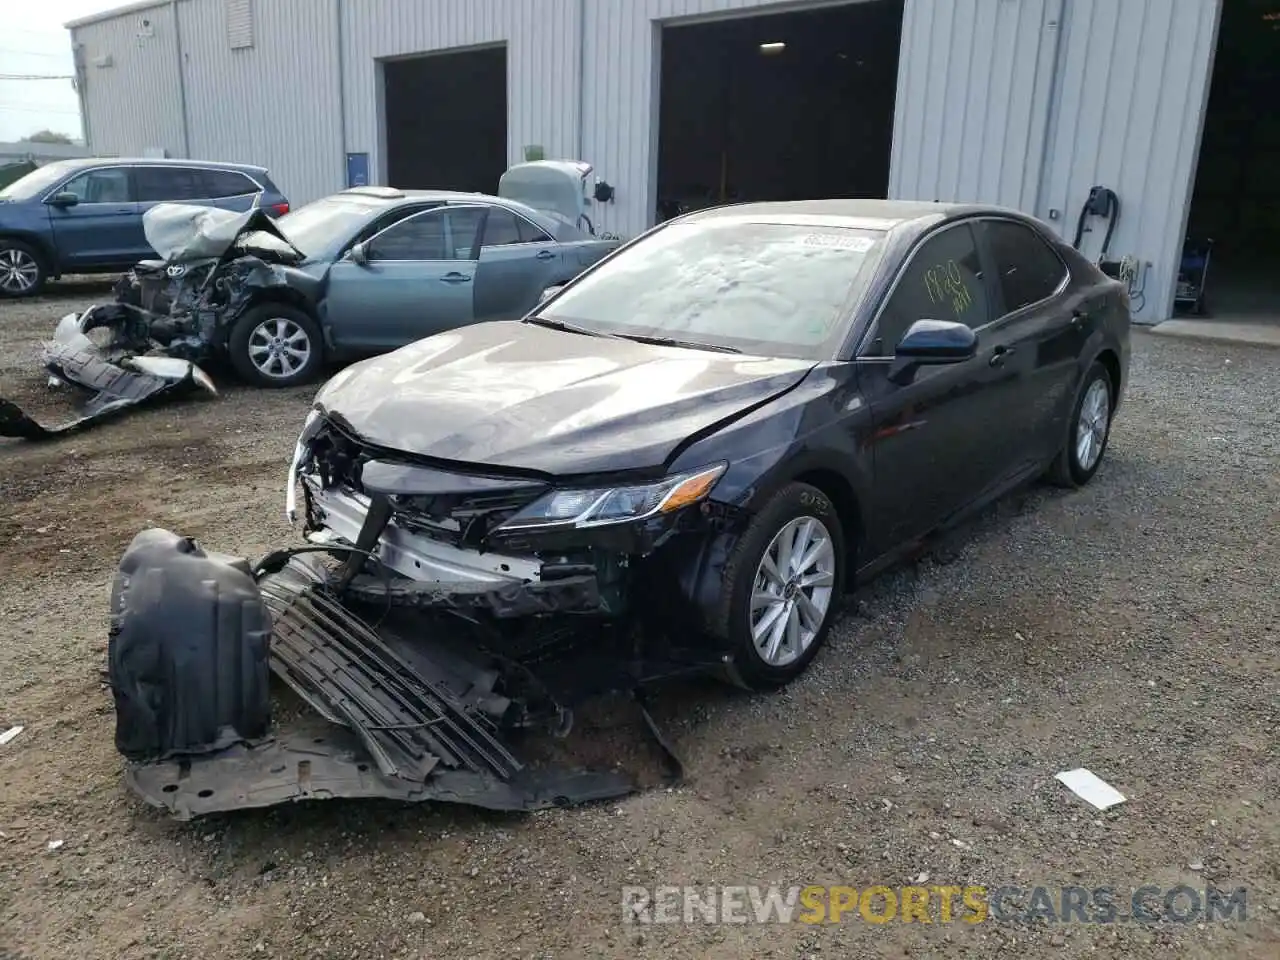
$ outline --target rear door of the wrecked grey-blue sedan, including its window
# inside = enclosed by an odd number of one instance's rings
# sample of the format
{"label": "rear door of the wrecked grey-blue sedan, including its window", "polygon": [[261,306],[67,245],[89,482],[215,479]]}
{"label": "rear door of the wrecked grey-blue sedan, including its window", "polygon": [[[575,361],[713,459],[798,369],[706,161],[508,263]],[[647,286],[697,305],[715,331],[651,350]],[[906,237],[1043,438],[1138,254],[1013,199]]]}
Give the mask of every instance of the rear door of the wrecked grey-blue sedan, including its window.
{"label": "rear door of the wrecked grey-blue sedan, including its window", "polygon": [[490,206],[476,268],[477,320],[516,320],[538,303],[562,273],[563,253],[538,224]]}

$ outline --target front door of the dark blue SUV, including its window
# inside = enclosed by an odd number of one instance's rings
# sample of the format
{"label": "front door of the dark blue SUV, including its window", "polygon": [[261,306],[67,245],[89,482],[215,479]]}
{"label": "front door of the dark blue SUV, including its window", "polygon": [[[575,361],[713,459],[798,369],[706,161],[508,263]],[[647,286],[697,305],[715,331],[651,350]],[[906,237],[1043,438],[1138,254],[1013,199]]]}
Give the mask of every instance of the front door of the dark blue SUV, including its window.
{"label": "front door of the dark blue SUV, including its window", "polygon": [[124,268],[150,252],[128,166],[86,170],[54,192],[73,193],[78,201],[49,205],[64,270]]}

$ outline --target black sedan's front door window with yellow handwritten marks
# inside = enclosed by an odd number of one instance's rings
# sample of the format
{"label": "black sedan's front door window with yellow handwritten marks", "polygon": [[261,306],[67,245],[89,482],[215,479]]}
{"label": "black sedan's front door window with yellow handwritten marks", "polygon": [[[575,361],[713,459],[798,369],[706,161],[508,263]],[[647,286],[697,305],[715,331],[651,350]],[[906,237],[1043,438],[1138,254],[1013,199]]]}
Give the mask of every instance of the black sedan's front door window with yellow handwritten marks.
{"label": "black sedan's front door window with yellow handwritten marks", "polygon": [[948,227],[911,255],[881,311],[876,339],[864,356],[891,357],[916,320],[951,320],[978,328],[991,323],[987,282],[969,224]]}

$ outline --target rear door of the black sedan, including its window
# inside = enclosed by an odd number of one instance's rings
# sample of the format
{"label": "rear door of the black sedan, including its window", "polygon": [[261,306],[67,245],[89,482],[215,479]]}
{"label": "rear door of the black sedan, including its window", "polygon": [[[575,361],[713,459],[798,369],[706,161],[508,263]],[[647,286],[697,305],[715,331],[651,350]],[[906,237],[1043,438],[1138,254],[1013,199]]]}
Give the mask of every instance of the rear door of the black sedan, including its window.
{"label": "rear door of the black sedan, including its window", "polygon": [[1066,264],[1039,232],[1002,218],[978,220],[975,228],[996,280],[992,333],[1005,347],[1002,367],[1016,396],[1005,419],[1011,467],[1030,470],[1065,436],[1087,316],[1075,310]]}

